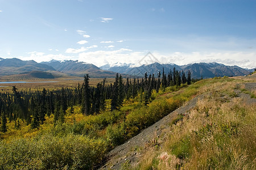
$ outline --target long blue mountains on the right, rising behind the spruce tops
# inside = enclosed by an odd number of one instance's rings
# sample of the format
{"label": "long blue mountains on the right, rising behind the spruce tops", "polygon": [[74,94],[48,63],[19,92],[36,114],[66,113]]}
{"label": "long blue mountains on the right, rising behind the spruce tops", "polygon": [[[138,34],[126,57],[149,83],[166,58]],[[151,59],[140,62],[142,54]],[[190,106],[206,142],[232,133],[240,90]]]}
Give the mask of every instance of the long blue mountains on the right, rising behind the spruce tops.
{"label": "long blue mountains on the right, rising behind the spruce tops", "polygon": [[168,64],[160,64],[158,62],[152,63],[150,65],[142,65],[139,67],[129,67],[129,66],[114,66],[110,67],[108,70],[116,71],[122,74],[129,74],[129,75],[138,75],[143,76],[144,73],[148,74],[155,74],[161,71],[164,68],[165,73],[167,74],[170,70],[183,70],[185,74],[188,73],[188,70],[191,71],[192,78],[213,78],[214,76],[240,76],[249,74],[250,71],[246,69],[242,69],[238,66],[225,66],[220,63],[193,63],[189,65],[178,66],[172,63]]}

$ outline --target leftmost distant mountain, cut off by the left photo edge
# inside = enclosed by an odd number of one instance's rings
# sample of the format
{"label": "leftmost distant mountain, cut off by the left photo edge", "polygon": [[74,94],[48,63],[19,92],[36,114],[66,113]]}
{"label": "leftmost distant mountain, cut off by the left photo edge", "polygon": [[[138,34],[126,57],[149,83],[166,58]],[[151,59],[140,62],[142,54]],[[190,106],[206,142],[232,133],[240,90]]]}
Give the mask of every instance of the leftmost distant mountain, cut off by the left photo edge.
{"label": "leftmost distant mountain, cut off by the left photo edge", "polygon": [[0,59],[0,76],[20,74],[29,71],[56,71],[53,67],[33,60],[22,61],[18,58]]}

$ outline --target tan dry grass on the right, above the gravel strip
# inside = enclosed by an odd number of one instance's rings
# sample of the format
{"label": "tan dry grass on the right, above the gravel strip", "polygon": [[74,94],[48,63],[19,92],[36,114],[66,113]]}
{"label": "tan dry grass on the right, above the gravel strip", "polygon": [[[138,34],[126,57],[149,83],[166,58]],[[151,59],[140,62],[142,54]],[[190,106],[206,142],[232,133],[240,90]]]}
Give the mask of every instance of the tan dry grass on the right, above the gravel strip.
{"label": "tan dry grass on the right, above the gravel strip", "polygon": [[139,169],[255,169],[255,103],[233,96],[234,88],[236,82],[200,87],[204,99],[172,125],[158,152],[143,156]]}

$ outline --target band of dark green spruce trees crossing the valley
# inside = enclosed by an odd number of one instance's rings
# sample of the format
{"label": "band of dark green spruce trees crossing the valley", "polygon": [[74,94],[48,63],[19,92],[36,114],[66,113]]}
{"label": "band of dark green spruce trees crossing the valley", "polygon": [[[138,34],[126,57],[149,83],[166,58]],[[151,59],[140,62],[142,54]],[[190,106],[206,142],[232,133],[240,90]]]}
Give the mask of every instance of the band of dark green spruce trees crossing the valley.
{"label": "band of dark green spruce trees crossing the valley", "polygon": [[20,120],[31,125],[32,129],[39,128],[46,120],[46,116],[53,114],[54,124],[58,121],[63,123],[64,116],[70,107],[73,113],[74,105],[81,105],[82,113],[85,115],[98,114],[106,109],[106,100],[111,100],[110,109],[113,111],[122,107],[123,101],[140,95],[141,101],[147,105],[150,101],[152,90],[156,93],[170,86],[191,84],[198,79],[191,79],[191,72],[187,76],[184,71],[175,68],[168,74],[164,69],[154,74],[144,74],[143,78],[126,78],[116,74],[112,84],[106,83],[106,78],[98,83],[96,87],[89,86],[89,75],[84,76],[84,83],[75,88],[61,88],[57,90],[43,91],[18,91],[13,86],[12,93],[0,94],[0,131],[7,131],[7,121],[15,121],[15,128],[20,128]]}

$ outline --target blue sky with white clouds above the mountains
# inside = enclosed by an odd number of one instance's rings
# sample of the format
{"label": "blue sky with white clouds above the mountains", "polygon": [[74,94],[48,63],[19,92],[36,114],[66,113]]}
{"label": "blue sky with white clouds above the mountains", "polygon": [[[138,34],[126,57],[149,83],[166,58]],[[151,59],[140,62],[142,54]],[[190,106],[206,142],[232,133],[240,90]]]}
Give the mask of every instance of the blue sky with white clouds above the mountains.
{"label": "blue sky with white clouds above the mountains", "polygon": [[0,57],[250,69],[255,9],[255,0],[0,0]]}

